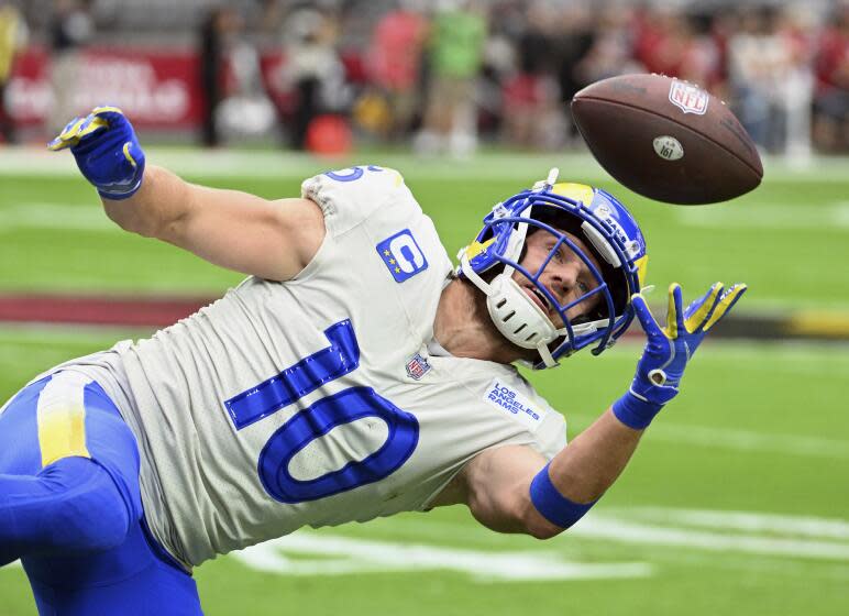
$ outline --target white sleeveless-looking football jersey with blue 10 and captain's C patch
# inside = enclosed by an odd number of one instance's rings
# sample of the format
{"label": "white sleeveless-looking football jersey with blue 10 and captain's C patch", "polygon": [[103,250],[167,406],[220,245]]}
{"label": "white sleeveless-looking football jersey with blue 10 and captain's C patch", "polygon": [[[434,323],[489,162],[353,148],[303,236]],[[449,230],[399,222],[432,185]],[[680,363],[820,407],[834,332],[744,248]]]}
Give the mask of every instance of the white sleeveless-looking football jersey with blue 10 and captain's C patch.
{"label": "white sleeveless-looking football jersey with blue 10 and captain's C patch", "polygon": [[291,532],[421,510],[479,452],[552,458],[565,422],[514,366],[428,352],[452,270],[401,176],[316,176],[327,237],[293,280],[250,277],[96,378],[141,449],[142,499],[186,565]]}

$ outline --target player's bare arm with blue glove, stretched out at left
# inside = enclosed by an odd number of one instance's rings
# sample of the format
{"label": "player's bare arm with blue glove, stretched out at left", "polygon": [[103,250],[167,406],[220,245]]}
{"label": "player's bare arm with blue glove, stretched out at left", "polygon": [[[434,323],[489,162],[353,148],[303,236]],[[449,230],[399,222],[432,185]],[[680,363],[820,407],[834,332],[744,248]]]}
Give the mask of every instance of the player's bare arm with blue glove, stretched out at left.
{"label": "player's bare arm with blue glove, stretched out at left", "polygon": [[49,147],[70,147],[107,215],[122,229],[229,270],[290,279],[324,239],[323,215],[309,199],[271,201],[207,188],[146,165],[132,125],[114,107],[99,107],[71,121]]}

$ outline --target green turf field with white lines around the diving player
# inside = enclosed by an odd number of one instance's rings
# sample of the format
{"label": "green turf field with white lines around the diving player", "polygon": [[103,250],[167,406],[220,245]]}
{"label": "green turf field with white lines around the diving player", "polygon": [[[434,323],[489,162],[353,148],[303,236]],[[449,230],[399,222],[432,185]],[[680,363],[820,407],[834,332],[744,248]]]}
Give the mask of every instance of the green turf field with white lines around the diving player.
{"label": "green turf field with white lines around the diving player", "polygon": [[[112,228],[69,157],[15,154],[0,154],[0,293],[217,295],[240,279]],[[271,153],[154,150],[150,160],[266,197],[295,195],[302,177],[328,167]],[[679,280],[692,296],[715,279],[739,279],[751,287],[741,311],[849,312],[846,161],[807,172],[768,164],[759,190],[708,208],[637,199],[573,156],[389,164],[405,173],[450,252],[472,238],[490,202],[559,165],[563,177],[588,177],[631,206],[649,243],[649,282],[661,289]],[[144,333],[0,326],[0,398],[58,361]],[[625,343],[531,378],[574,436],[627,386],[638,354]],[[300,531],[199,568],[205,609],[845,615],[848,394],[845,344],[708,342],[622,479],[573,530],[545,542],[499,536],[453,507]],[[0,616],[26,614],[34,607],[22,571],[0,570]]]}

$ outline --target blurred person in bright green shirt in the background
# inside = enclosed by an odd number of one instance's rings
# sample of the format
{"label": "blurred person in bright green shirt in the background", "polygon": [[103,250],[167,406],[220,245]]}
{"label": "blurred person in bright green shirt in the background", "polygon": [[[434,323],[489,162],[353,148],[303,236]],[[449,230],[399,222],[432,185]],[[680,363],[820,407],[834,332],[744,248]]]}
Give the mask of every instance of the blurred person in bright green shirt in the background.
{"label": "blurred person in bright green shirt in the background", "polygon": [[456,156],[477,145],[475,80],[486,40],[486,16],[470,0],[442,0],[429,46],[431,84],[424,127],[416,136],[421,153],[448,150]]}

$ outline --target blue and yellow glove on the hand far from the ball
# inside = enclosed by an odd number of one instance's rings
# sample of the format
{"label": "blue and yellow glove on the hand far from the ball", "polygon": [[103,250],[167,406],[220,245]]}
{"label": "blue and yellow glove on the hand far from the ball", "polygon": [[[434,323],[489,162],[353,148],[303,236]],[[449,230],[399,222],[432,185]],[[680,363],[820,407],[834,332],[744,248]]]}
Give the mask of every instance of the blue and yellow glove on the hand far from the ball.
{"label": "blue and yellow glove on the hand far from the ball", "polygon": [[142,185],[144,152],[117,107],[96,107],[86,118],[75,118],[47,147],[70,147],[79,170],[106,199],[126,199]]}

